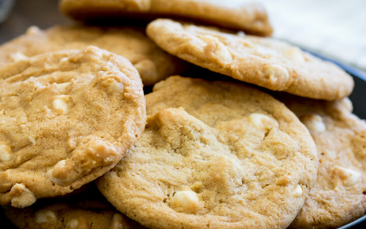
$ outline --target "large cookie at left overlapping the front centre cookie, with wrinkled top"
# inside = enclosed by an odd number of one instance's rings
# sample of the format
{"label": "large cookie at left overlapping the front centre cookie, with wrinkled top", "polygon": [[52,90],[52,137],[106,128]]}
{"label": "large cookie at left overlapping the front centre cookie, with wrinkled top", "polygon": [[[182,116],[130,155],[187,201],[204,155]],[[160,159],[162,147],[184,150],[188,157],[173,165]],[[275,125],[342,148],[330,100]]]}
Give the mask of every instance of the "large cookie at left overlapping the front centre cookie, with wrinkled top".
{"label": "large cookie at left overlapping the front centre cookie, with wrinkled top", "polygon": [[18,208],[102,176],[146,120],[137,70],[94,46],[1,68],[0,98],[0,204]]}

